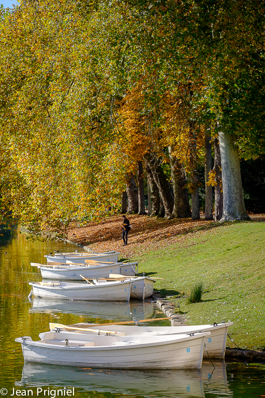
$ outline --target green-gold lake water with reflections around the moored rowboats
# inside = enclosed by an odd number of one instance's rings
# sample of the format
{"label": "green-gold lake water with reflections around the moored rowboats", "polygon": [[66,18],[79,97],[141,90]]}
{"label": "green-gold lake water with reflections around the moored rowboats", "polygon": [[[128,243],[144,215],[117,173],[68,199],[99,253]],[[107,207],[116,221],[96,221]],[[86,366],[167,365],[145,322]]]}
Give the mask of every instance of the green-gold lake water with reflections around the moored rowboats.
{"label": "green-gold lake water with reflections around the moored rowboats", "polygon": [[73,393],[77,398],[265,396],[265,366],[259,364],[215,362],[214,369],[210,362],[204,362],[201,371],[156,372],[24,364],[21,345],[14,339],[28,335],[38,340],[38,334],[49,329],[49,322],[164,316],[153,303],[140,301],[30,302],[28,282],[41,280],[39,270],[30,262],[45,263],[44,254],[54,249],[73,251],[77,247],[62,242],[31,242],[25,234],[0,240],[0,397],[73,397]]}

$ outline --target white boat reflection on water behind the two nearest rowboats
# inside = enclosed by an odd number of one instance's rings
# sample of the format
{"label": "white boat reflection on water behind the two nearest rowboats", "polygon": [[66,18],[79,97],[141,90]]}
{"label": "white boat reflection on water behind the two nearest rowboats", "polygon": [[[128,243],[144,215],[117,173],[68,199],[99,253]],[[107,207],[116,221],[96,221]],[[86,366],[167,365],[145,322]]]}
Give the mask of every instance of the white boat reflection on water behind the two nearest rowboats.
{"label": "white boat reflection on water behind the two nearest rowboats", "polygon": [[139,300],[131,300],[130,302],[109,301],[82,301],[82,300],[50,300],[45,298],[34,298],[30,300],[32,303],[29,312],[61,312],[61,313],[71,313],[76,315],[88,315],[92,318],[101,319],[115,319],[119,321],[120,319],[133,320],[153,318],[155,314],[158,313],[160,316],[163,314],[159,311],[157,306],[151,302],[139,302]]}

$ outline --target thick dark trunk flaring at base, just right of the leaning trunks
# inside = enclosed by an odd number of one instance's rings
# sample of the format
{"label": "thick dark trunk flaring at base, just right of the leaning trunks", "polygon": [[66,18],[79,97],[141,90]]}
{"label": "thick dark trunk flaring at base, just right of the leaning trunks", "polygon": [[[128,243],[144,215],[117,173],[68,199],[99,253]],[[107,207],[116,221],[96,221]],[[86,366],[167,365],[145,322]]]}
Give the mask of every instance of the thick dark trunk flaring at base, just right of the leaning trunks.
{"label": "thick dark trunk flaring at base, just right of the leaning trunks", "polygon": [[174,207],[170,218],[191,217],[188,200],[188,192],[185,188],[185,179],[181,165],[172,155],[172,147],[169,147],[172,185],[174,192]]}

